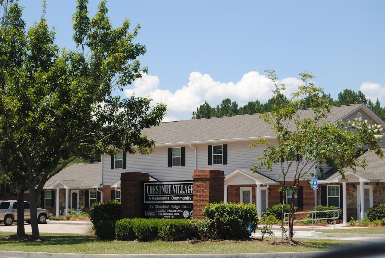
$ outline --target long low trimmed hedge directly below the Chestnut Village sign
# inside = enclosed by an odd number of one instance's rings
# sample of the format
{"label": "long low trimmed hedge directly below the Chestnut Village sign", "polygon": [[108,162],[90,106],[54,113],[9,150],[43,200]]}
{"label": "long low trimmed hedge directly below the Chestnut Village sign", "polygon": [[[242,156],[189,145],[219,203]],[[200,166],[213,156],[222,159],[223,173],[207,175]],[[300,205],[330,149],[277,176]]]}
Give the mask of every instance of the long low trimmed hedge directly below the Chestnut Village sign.
{"label": "long low trimmed hedge directly below the Chestnut Village sign", "polygon": [[176,241],[198,238],[189,219],[120,219],[116,221],[115,237],[118,240]]}

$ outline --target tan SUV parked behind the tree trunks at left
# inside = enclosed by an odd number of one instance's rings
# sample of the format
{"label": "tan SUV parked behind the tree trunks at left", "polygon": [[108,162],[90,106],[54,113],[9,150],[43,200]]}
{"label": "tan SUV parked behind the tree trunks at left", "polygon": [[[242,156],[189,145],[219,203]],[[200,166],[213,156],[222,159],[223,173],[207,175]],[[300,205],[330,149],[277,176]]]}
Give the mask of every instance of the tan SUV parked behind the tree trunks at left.
{"label": "tan SUV parked behind the tree trunks at left", "polygon": [[[37,208],[37,218],[40,224],[47,223],[49,211]],[[24,202],[24,220],[28,224],[31,223],[30,203],[27,201]],[[0,201],[0,222],[3,222],[5,226],[10,226],[13,221],[17,221],[17,201]]]}

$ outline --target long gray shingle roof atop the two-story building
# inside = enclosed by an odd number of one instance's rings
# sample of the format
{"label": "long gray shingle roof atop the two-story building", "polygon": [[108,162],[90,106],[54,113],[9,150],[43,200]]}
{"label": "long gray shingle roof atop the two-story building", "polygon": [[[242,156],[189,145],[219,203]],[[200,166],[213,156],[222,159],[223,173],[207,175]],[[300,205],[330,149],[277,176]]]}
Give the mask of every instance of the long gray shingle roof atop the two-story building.
{"label": "long gray shingle roof atop the two-story building", "polygon": [[[360,106],[363,104],[332,107],[326,121],[335,122]],[[306,118],[313,114],[311,109],[302,109],[300,115]],[[156,144],[273,136],[271,126],[259,116],[249,114],[163,122],[143,132]]]}

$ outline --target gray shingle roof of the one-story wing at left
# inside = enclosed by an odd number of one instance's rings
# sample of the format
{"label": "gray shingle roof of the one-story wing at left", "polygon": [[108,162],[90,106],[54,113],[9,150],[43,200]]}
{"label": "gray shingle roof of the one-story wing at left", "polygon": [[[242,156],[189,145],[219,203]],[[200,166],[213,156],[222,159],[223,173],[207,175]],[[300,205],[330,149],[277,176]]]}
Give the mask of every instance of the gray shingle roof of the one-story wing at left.
{"label": "gray shingle roof of the one-story wing at left", "polygon": [[100,163],[73,164],[50,178],[44,184],[44,188],[57,180],[62,181],[70,188],[97,187],[100,185],[100,170]]}

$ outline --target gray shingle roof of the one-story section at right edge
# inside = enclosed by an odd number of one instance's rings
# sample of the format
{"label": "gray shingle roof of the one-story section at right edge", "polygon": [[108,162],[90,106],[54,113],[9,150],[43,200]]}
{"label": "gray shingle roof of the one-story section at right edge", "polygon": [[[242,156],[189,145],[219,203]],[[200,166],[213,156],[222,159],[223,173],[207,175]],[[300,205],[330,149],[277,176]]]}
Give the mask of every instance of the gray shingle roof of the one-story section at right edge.
{"label": "gray shingle roof of the one-story section at right edge", "polygon": [[[385,149],[382,149],[385,153]],[[355,174],[362,176],[368,180],[385,180],[385,159],[378,157],[374,151],[367,151],[357,158],[358,160],[365,159],[368,166],[363,169],[358,167]],[[346,168],[345,171],[351,171],[352,169]],[[330,169],[325,173],[325,178],[322,180],[329,180],[338,176],[338,171]]]}

